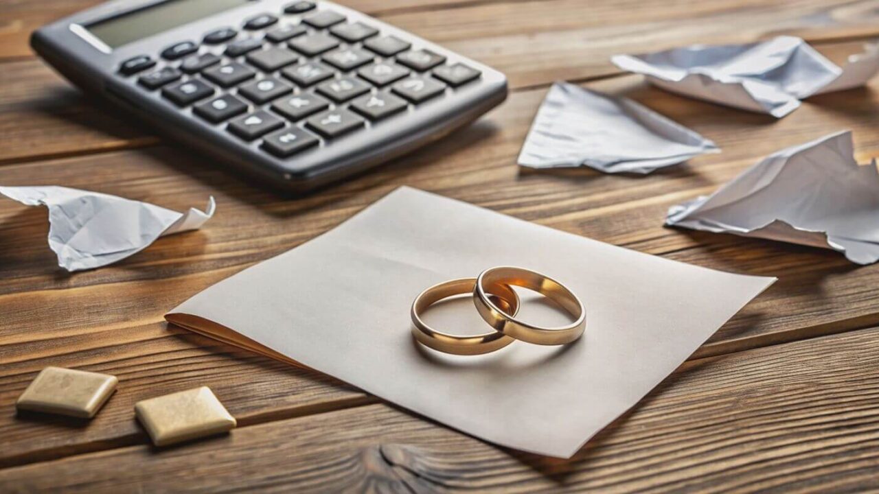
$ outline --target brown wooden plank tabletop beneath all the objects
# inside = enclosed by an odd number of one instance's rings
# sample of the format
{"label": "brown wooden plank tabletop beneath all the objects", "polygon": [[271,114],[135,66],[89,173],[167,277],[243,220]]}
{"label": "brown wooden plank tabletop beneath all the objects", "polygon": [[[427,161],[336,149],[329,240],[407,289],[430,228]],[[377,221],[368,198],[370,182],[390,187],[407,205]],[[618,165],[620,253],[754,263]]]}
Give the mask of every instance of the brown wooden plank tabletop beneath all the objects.
{"label": "brown wooden plank tabletop beneath all the objects", "polygon": [[[836,62],[879,35],[876,0],[343,0],[504,71],[507,102],[410,156],[301,199],[266,192],[84,98],[27,47],[96,0],[0,1],[0,184],[68,185],[201,207],[207,228],[117,265],[69,274],[46,211],[0,200],[0,491],[866,490],[879,488],[879,265],[833,251],[662,226],[761,156],[854,130],[879,155],[879,80],[810,98],[783,120],[699,103],[609,62],[689,43],[788,33]],[[554,80],[624,94],[723,154],[644,178],[537,173],[516,156]],[[168,327],[215,282],[412,185],[578,235],[780,281],[569,461],[495,447],[325,375]],[[115,374],[86,425],[16,416],[46,366]],[[156,449],[134,403],[207,385],[229,436]],[[551,413],[551,410],[548,410]]]}

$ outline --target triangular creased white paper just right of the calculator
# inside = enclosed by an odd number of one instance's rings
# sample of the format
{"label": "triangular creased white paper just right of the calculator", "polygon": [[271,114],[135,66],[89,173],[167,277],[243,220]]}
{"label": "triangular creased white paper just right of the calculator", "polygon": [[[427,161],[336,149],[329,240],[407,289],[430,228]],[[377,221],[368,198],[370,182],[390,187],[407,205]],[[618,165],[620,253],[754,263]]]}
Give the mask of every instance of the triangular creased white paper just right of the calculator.
{"label": "triangular creased white paper just right of the calculator", "polygon": [[719,152],[714,142],[631,99],[556,83],[534,117],[519,164],[646,174],[712,152]]}

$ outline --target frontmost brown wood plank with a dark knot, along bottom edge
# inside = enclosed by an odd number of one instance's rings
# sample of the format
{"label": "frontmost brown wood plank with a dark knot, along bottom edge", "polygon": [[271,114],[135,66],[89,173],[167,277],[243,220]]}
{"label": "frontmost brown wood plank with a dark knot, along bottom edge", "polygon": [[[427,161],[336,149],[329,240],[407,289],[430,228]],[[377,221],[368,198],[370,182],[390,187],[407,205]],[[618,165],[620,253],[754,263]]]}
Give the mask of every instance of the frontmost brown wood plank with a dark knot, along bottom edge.
{"label": "frontmost brown wood plank with a dark knot, along bottom edge", "polygon": [[[0,471],[7,491],[879,489],[879,329],[688,362],[570,460],[384,404]],[[108,465],[113,464],[113,468]]]}

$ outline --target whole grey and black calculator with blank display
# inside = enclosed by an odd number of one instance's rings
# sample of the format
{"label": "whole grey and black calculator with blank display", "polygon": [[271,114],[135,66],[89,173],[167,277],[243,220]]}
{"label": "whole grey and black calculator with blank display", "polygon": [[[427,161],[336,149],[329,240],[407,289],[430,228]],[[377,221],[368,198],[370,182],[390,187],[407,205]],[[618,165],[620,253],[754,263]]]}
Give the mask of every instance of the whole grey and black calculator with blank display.
{"label": "whole grey and black calculator with blank display", "polygon": [[330,2],[116,0],[31,45],[85,91],[294,191],[439,139],[507,93],[497,70]]}

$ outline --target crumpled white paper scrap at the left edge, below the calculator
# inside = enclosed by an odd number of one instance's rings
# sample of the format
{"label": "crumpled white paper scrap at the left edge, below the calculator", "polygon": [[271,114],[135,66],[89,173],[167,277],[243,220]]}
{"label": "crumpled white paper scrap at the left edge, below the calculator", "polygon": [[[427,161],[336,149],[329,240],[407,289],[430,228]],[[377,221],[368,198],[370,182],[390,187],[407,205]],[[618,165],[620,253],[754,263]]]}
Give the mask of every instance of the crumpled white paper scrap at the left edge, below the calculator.
{"label": "crumpled white paper scrap at the left edge, below the calculator", "polygon": [[200,229],[214,215],[207,210],[178,213],[139,200],[60,186],[0,186],[0,194],[28,206],[49,208],[49,247],[68,271],[92,269],[127,258],[160,236]]}

